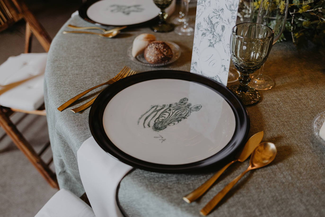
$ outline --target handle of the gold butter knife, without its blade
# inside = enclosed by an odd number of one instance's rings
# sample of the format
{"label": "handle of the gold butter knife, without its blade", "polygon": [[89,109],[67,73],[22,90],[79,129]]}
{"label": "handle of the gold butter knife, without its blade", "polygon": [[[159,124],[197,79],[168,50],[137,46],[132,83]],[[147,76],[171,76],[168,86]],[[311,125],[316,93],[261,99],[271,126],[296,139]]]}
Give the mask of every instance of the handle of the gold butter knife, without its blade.
{"label": "handle of the gold butter knife, without its blade", "polygon": [[212,185],[213,183],[219,178],[219,176],[233,163],[235,163],[238,160],[233,160],[230,163],[228,163],[226,166],[224,166],[221,170],[216,172],[210,179],[208,179],[205,183],[203,183],[200,187],[189,193],[187,196],[183,197],[183,200],[185,200],[188,203],[191,203],[201,197]]}

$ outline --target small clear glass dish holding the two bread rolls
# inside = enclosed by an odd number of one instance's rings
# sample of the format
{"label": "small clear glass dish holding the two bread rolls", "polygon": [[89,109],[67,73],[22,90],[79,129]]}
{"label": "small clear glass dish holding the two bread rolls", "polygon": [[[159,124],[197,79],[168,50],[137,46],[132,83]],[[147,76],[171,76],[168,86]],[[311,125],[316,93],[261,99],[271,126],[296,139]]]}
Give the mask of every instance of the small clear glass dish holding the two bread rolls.
{"label": "small clear glass dish holding the two bread rolls", "polygon": [[146,61],[146,59],[144,58],[144,55],[143,53],[142,54],[139,54],[137,55],[136,57],[133,57],[132,56],[132,45],[131,47],[129,47],[127,49],[127,54],[128,56],[130,57],[130,59],[137,63],[137,64],[140,64],[140,65],[145,65],[145,66],[151,66],[151,67],[158,67],[158,66],[164,66],[164,65],[168,65],[168,64],[171,64],[173,62],[175,62],[176,60],[178,60],[178,58],[180,57],[181,55],[181,49],[180,47],[175,44],[174,42],[171,42],[171,41],[164,41],[173,51],[173,57],[170,61],[167,61],[167,62],[164,62],[164,63],[158,63],[158,64],[151,64],[149,63],[148,61]]}

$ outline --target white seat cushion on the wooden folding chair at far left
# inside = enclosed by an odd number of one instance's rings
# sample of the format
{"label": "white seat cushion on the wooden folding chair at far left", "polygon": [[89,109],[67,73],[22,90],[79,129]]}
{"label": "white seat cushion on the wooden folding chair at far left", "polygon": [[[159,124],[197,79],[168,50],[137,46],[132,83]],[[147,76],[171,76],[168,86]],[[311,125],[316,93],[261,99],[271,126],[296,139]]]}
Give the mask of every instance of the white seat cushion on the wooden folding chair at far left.
{"label": "white seat cushion on the wooden folding chair at far left", "polygon": [[47,53],[23,53],[0,65],[0,105],[36,110],[44,102]]}

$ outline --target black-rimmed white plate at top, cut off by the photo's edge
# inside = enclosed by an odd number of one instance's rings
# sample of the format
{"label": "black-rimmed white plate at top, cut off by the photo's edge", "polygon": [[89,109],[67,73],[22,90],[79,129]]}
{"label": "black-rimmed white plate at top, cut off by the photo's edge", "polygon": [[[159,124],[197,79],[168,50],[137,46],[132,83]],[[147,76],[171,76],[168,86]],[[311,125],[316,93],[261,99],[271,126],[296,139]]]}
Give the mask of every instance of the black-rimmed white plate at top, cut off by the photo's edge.
{"label": "black-rimmed white plate at top, cut off by the photo's edge", "polygon": [[79,16],[106,27],[136,27],[155,20],[160,9],[152,0],[92,0],[79,8]]}

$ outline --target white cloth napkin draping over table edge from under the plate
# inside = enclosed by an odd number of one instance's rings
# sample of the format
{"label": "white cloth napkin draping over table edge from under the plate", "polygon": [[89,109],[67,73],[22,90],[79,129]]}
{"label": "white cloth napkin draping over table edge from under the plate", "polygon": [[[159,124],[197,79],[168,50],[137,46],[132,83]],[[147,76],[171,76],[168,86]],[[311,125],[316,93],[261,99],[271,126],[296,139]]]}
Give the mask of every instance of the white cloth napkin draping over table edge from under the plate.
{"label": "white cloth napkin draping over table edge from under the plate", "polygon": [[77,152],[85,192],[96,217],[123,217],[116,202],[116,188],[132,167],[107,154],[93,137]]}

